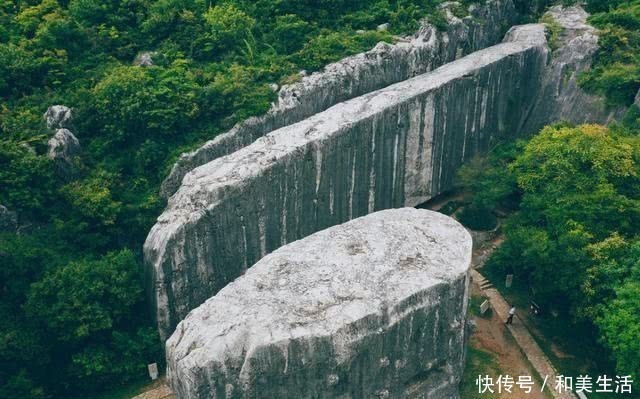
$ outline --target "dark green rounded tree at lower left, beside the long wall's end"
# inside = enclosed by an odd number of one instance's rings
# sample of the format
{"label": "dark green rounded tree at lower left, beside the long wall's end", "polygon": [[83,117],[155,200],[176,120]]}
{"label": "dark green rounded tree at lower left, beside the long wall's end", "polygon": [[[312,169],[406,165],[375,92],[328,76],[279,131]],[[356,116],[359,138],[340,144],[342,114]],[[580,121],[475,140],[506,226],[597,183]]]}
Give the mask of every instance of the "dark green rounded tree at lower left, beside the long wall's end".
{"label": "dark green rounded tree at lower left, beside the long wall's end", "polygon": [[[75,389],[135,378],[158,355],[157,334],[133,316],[141,305],[141,267],[129,250],[72,261],[32,284],[26,309],[61,348],[60,370]],[[56,362],[61,362],[56,359]],[[93,383],[95,384],[95,382]],[[91,386],[91,385],[88,385]]]}

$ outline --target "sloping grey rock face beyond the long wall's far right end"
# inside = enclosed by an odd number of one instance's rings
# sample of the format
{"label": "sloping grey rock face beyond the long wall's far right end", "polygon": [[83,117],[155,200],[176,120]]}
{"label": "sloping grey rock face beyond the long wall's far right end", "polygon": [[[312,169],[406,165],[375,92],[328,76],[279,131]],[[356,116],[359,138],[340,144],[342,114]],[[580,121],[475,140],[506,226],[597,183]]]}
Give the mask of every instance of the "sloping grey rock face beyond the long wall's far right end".
{"label": "sloping grey rock face beyond the long wall's far right end", "polygon": [[578,76],[591,67],[598,50],[596,29],[587,24],[589,14],[580,6],[554,6],[546,15],[561,32],[544,74],[541,95],[524,129],[535,132],[557,121],[608,124],[619,119],[623,108],[607,107],[604,98],[588,94],[578,85]]}

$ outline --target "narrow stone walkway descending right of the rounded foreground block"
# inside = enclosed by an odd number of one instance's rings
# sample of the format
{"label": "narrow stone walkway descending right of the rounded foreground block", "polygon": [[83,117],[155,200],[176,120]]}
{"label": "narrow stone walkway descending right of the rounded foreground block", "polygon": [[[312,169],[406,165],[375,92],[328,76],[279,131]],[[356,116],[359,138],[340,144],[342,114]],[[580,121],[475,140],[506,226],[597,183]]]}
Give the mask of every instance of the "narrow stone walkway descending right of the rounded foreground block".
{"label": "narrow stone walkway descending right of the rounded foreground block", "polygon": [[[478,285],[481,285],[486,281],[486,279],[474,269],[471,270],[471,278]],[[498,316],[500,316],[502,320],[507,320],[509,304],[502,295],[500,295],[498,290],[495,288],[486,288],[483,289],[482,292],[487,296],[489,303],[491,304],[491,308],[498,314]],[[522,349],[524,355],[531,362],[531,365],[540,376],[540,380],[545,381],[546,379],[545,389],[548,388],[549,392],[556,399],[577,399],[573,393],[559,393],[554,389],[557,372],[542,349],[540,349],[540,346],[533,339],[529,330],[527,330],[524,324],[522,324],[522,321],[518,319],[517,315],[513,324],[508,325],[507,328],[518,343],[518,346]]]}

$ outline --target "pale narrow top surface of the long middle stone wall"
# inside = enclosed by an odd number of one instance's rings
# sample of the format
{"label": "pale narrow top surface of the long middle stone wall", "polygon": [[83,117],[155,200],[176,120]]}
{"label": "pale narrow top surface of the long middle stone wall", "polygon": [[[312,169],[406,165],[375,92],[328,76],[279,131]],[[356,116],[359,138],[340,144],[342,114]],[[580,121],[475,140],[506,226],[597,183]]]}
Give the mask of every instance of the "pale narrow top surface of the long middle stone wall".
{"label": "pale narrow top surface of the long middle stone wall", "polygon": [[185,176],[178,192],[169,199],[156,228],[163,223],[181,223],[198,218],[201,211],[221,199],[226,187],[241,184],[264,173],[297,148],[320,143],[355,121],[381,113],[386,108],[437,89],[451,80],[473,76],[505,57],[532,47],[546,46],[542,25],[529,25],[527,32],[530,36],[518,35],[518,41],[477,51],[432,72],[335,105],[301,122],[275,130],[233,154],[194,169]]}

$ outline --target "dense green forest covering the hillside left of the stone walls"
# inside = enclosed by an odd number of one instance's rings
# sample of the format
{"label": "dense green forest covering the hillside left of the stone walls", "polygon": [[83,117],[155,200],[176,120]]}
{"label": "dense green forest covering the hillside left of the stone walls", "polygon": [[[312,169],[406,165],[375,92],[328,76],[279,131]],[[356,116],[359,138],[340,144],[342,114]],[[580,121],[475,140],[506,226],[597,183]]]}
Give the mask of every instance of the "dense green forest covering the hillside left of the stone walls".
{"label": "dense green forest covering the hillside left of the stone walls", "polygon": [[[0,397],[144,377],[161,355],[140,250],[175,157],[264,112],[270,83],[442,26],[440,2],[0,0],[0,204],[20,225],[0,233]],[[46,156],[53,104],[74,110],[74,173]]]}

